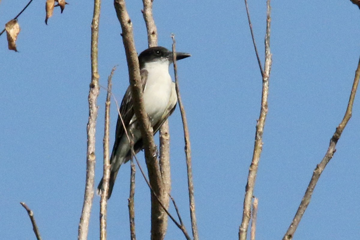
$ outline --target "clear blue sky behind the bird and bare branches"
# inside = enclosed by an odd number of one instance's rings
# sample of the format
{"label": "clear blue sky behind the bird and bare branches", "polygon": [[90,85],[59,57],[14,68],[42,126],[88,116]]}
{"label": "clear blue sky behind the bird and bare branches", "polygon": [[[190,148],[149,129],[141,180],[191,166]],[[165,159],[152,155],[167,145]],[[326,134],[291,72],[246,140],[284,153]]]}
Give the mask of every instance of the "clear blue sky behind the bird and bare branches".
{"label": "clear blue sky behind the bird and bare branches", "polygon": [[[2,0],[5,24],[27,0]],[[24,201],[43,239],[75,239],[85,184],[87,95],[90,83],[88,5],[70,1],[45,25],[44,1],[19,17],[19,53],[0,37],[0,239],[35,239]],[[259,198],[257,239],[281,239],[312,171],[345,113],[360,54],[360,11],[350,1],[273,1],[269,113],[254,194]],[[264,63],[266,1],[249,2]],[[141,1],[127,1],[136,48],[147,48]],[[99,74],[113,77],[118,101],[128,85],[120,24],[112,1],[103,1]],[[159,45],[192,54],[178,63],[180,91],[192,143],[195,203],[201,239],[237,239],[244,189],[260,110],[261,76],[243,1],[154,1]],[[172,69],[171,69],[172,70]],[[171,71],[172,72],[172,71]],[[102,177],[105,91],[99,99],[96,184]],[[178,111],[170,117],[172,196],[188,231],[186,165]],[[111,145],[116,105],[111,108]],[[360,237],[360,103],[314,191],[294,239]],[[157,139],[157,138],[156,138]],[[139,154],[145,168],[143,154]],[[130,166],[120,169],[108,203],[108,239],[129,237]],[[136,175],[138,239],[150,232],[149,189]],[[95,196],[89,239],[99,236]],[[171,208],[175,214],[175,210]],[[166,239],[183,239],[169,222]]]}

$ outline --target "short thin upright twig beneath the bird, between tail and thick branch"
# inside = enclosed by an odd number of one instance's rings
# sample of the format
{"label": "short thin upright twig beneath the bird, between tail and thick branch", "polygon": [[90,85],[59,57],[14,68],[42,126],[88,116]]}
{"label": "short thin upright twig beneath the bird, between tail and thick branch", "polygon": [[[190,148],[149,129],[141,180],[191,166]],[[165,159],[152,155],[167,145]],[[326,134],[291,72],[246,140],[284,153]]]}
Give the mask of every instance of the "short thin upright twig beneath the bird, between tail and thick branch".
{"label": "short thin upright twig beneath the bird, between tail and thick branch", "polygon": [[[125,128],[125,126],[124,126]],[[135,235],[135,164],[134,164],[134,134],[131,132],[130,148],[131,148],[131,159],[130,159],[130,194],[127,206],[129,207],[129,222],[130,222],[130,239],[136,240]]]}

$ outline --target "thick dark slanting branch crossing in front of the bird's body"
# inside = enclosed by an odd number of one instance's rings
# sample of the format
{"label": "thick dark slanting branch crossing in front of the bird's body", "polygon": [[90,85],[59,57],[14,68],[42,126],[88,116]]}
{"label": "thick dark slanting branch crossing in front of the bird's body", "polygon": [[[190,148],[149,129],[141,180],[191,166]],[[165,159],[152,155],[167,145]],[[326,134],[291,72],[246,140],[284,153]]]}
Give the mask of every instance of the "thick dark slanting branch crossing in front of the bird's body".
{"label": "thick dark slanting branch crossing in front of the bird's body", "polygon": [[[148,176],[150,185],[157,196],[162,193],[162,179],[157,159],[157,147],[154,143],[153,128],[150,125],[148,114],[144,109],[143,91],[140,81],[139,60],[135,49],[134,35],[132,32],[132,23],[129,14],[126,10],[124,0],[114,0],[114,7],[117,17],[121,24],[122,40],[125,47],[127,65],[129,69],[131,95],[134,105],[134,111],[139,127],[141,136],[144,142],[145,159],[148,168]],[[157,206],[157,210],[152,208],[152,226],[159,226],[162,223],[162,217],[159,215],[161,204]],[[152,227],[152,229],[154,229]],[[156,233],[152,232],[152,237]],[[156,238],[157,239],[157,238]]]}

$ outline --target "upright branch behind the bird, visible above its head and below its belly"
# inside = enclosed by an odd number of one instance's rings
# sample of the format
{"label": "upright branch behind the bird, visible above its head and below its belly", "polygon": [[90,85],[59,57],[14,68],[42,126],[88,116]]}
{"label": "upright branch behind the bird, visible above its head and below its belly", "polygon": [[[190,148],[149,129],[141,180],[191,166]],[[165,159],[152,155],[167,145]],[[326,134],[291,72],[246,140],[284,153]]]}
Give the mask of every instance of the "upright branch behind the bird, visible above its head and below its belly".
{"label": "upright branch behind the bird, visible above its head and below its belly", "polygon": [[[153,18],[153,0],[143,0],[144,9],[141,10],[143,13],[144,21],[146,24],[146,30],[148,33],[148,46],[157,46],[157,30],[155,21]],[[160,143],[160,173],[162,179],[162,191],[158,195],[161,199],[162,204],[169,207],[169,194],[171,191],[171,178],[170,178],[170,134],[169,134],[169,123],[166,120],[159,131],[159,143]],[[152,218],[152,237],[151,239],[163,239],[167,230],[167,214],[164,209],[159,205],[158,200],[151,195],[151,209],[152,216],[158,216],[158,218]]]}

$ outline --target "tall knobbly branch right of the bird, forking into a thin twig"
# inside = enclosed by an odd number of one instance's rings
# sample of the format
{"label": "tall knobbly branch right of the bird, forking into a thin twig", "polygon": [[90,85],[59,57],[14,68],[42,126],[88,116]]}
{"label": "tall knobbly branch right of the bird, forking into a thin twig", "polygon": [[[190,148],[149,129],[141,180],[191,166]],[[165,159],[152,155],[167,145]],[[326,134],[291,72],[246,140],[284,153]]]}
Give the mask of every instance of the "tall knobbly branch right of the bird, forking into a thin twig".
{"label": "tall knobbly branch right of the bird, forking into a thin twig", "polygon": [[265,36],[265,68],[262,74],[262,95],[260,117],[256,124],[255,144],[253,157],[249,168],[248,181],[245,189],[244,208],[242,222],[239,227],[239,240],[246,240],[249,221],[251,217],[251,199],[254,192],[257,168],[262,151],[262,134],[264,132],[265,119],[267,114],[267,97],[269,95],[269,77],[271,70],[271,53],[270,53],[270,0],[267,0],[267,17],[266,17],[266,36]]}

